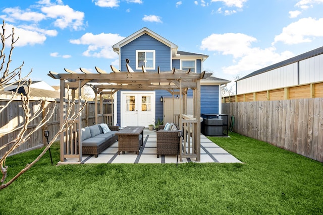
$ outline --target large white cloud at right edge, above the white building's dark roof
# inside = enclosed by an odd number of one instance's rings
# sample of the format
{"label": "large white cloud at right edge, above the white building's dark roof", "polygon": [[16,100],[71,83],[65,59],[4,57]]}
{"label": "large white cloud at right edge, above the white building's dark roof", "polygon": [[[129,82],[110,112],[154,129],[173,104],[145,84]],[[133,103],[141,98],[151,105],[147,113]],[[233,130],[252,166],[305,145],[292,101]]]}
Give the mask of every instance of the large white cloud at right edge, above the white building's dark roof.
{"label": "large white cloud at right edge, above the white building's dark roof", "polygon": [[298,44],[311,42],[315,37],[323,37],[323,18],[303,18],[283,28],[280,35],[275,36],[275,43]]}

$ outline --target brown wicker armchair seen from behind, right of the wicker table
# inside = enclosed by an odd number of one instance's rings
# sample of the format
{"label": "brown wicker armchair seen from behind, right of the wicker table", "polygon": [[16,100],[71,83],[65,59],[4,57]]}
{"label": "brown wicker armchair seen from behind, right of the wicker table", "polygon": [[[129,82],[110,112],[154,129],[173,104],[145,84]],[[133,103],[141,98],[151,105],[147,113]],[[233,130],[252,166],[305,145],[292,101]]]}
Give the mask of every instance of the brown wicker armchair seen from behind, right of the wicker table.
{"label": "brown wicker armchair seen from behind, right of the wicker table", "polygon": [[163,130],[164,125],[159,125],[157,133],[157,158],[159,155],[178,155],[181,135],[178,130]]}

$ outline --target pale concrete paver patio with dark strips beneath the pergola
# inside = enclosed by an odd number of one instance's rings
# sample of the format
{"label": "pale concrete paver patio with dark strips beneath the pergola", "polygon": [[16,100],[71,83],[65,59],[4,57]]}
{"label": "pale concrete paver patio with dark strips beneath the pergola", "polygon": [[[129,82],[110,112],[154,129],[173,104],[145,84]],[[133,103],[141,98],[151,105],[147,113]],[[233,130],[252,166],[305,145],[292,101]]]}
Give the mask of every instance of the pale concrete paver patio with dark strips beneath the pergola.
{"label": "pale concrete paver patio with dark strips beneath the pergola", "polygon": [[[112,146],[104,150],[95,158],[92,155],[82,155],[82,162],[78,162],[78,159],[69,158],[66,162],[59,162],[61,164],[138,164],[138,163],[155,163],[166,164],[175,163],[177,157],[175,155],[162,155],[157,158],[156,155],[156,131],[149,131],[144,129],[144,144],[141,147],[139,155],[134,152],[126,152],[125,154],[118,155],[118,142],[115,142]],[[219,137],[230,138],[230,137]],[[188,150],[188,149],[187,149]],[[178,158],[178,164],[195,162],[195,159],[183,158],[181,162]],[[197,163],[241,163],[238,159],[232,156],[230,153],[214,144],[206,136],[201,134],[201,161]]]}

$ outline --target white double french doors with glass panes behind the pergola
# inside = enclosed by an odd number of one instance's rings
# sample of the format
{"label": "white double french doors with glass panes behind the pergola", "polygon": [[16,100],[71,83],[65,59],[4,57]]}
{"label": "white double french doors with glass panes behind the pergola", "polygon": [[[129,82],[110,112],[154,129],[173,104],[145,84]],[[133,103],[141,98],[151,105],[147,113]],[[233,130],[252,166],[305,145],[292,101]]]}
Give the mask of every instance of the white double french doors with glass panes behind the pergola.
{"label": "white double french doors with glass panes behind the pergola", "polygon": [[155,92],[121,92],[121,126],[152,124],[155,116]]}

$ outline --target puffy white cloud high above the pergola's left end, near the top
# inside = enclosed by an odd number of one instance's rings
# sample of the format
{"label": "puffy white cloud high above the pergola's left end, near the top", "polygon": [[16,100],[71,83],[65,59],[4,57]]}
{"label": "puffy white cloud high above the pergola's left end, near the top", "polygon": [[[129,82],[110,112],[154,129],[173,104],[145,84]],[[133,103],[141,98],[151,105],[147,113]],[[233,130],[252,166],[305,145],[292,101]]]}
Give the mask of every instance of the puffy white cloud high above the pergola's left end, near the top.
{"label": "puffy white cloud high above the pergola's left end, near the top", "polygon": [[47,17],[56,19],[54,25],[61,29],[71,27],[74,30],[80,30],[83,28],[84,13],[80,11],[74,11],[68,5],[55,5],[50,7],[43,7],[41,11],[46,14]]}

